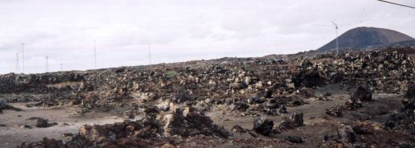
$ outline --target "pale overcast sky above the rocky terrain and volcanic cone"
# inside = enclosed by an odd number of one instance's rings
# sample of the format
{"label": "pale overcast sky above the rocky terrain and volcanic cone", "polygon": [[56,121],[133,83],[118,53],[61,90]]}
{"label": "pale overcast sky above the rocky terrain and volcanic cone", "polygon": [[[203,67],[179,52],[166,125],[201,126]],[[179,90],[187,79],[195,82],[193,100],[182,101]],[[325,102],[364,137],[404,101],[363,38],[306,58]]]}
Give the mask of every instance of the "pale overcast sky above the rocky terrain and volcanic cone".
{"label": "pale overcast sky above the rocky terrain and volcanic cone", "polygon": [[[414,0],[391,0],[415,6]],[[0,73],[258,57],[315,50],[358,26],[415,37],[415,9],[376,0],[0,0]],[[16,54],[19,68],[16,69]]]}

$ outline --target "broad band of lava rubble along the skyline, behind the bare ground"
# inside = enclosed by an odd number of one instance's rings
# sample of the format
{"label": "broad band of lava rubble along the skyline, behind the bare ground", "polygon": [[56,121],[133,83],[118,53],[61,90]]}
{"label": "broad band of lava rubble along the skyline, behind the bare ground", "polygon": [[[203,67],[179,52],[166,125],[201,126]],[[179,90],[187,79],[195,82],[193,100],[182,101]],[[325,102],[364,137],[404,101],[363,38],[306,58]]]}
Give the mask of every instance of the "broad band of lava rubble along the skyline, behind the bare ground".
{"label": "broad band of lava rubble along the skyline, behind the bare ground", "polygon": [[[0,95],[8,95],[8,102],[80,105],[81,114],[111,111],[123,102],[137,100],[168,99],[194,105],[209,99],[215,105],[230,105],[232,111],[279,115],[287,112],[285,106],[306,104],[310,98],[324,100],[304,93],[304,88],[329,83],[347,87],[364,84],[376,93],[400,93],[414,79],[414,73],[414,59],[399,50],[222,58],[95,71],[10,73],[0,75]],[[28,99],[18,99],[21,95]],[[365,97],[369,96],[356,96],[360,101],[366,101]]]}

